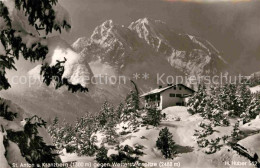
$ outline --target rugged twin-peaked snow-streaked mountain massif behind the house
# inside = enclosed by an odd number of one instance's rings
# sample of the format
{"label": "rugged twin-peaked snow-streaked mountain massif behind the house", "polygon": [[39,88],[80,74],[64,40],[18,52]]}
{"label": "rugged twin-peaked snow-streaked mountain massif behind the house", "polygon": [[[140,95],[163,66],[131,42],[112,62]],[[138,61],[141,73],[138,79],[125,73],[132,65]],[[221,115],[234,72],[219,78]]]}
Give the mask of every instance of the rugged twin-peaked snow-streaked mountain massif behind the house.
{"label": "rugged twin-peaked snow-streaked mountain massif behind the house", "polygon": [[90,38],[80,38],[72,46],[88,59],[90,66],[100,61],[123,74],[131,74],[129,69],[134,72],[139,70],[137,65],[144,64],[142,70],[148,73],[156,67],[158,72],[188,76],[215,75],[227,68],[227,62],[209,41],[179,34],[166,23],[148,18],[128,27],[105,21]]}

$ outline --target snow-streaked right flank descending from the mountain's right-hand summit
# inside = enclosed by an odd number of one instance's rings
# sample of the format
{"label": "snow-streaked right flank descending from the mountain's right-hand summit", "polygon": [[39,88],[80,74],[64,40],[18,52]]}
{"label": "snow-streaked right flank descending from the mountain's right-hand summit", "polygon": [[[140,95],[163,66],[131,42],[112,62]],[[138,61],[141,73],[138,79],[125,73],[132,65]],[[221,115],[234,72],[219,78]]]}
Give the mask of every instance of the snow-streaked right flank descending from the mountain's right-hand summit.
{"label": "snow-streaked right flank descending from the mountain's right-hand summit", "polygon": [[210,42],[200,37],[178,34],[162,21],[139,19],[129,28],[185,74],[214,75],[227,66]]}

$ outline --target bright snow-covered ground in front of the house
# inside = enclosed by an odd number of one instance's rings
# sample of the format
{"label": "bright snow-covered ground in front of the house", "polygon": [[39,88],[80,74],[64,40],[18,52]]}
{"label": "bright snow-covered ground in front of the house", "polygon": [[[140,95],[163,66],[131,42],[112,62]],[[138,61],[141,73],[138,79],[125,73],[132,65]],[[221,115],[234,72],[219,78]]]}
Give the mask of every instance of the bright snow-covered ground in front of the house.
{"label": "bright snow-covered ground in front of the house", "polygon": [[[231,147],[224,145],[221,150],[214,154],[207,155],[203,151],[204,149],[199,148],[196,142],[196,137],[193,136],[194,130],[199,129],[199,123],[205,121],[199,115],[190,115],[187,112],[186,107],[169,107],[162,111],[166,114],[166,119],[164,119],[159,127],[140,127],[138,132],[134,132],[124,137],[120,138],[120,145],[130,145],[134,146],[140,144],[144,146],[143,152],[144,156],[140,157],[141,160],[146,163],[162,163],[162,162],[172,162],[180,164],[180,167],[187,168],[223,168],[230,167],[227,163],[247,163],[246,167],[253,167],[249,165],[249,160],[238,155],[236,151],[231,149]],[[176,120],[177,119],[177,120]],[[258,121],[258,122],[257,122]],[[207,138],[216,139],[217,137],[222,137],[224,135],[230,135],[233,129],[235,121],[231,120],[231,126],[229,127],[214,127],[214,133]],[[258,124],[257,124],[258,123]],[[259,119],[253,120],[251,125],[259,128]],[[159,136],[159,131],[168,127],[169,131],[173,134],[173,139],[176,142],[177,154],[174,159],[164,159],[161,152],[156,148],[156,140]],[[243,126],[250,127],[250,126]],[[260,152],[260,134],[249,136],[239,143],[248,147],[249,150],[254,153]],[[221,140],[222,141],[222,140]],[[248,145],[246,145],[248,144]],[[108,153],[113,153],[113,149],[110,149]],[[68,161],[78,161],[83,163],[94,163],[94,157],[77,157],[75,154],[64,153],[61,159],[65,162]],[[86,166],[87,167],[87,166]],[[154,166],[156,167],[156,166]],[[168,167],[168,166],[157,166],[157,167]],[[233,165],[232,167],[236,167]],[[239,167],[239,166],[238,166]],[[241,166],[240,166],[241,167]]]}

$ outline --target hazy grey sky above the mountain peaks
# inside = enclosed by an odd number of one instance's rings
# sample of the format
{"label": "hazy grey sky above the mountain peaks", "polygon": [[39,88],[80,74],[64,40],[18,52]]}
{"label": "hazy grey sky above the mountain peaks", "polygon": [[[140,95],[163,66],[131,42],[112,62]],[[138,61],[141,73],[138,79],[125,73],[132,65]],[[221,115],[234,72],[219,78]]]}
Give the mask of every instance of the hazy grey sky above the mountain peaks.
{"label": "hazy grey sky above the mountain peaks", "polygon": [[260,1],[251,0],[60,0],[72,18],[69,43],[89,37],[108,19],[128,26],[148,17],[179,32],[208,39],[232,66],[260,71]]}

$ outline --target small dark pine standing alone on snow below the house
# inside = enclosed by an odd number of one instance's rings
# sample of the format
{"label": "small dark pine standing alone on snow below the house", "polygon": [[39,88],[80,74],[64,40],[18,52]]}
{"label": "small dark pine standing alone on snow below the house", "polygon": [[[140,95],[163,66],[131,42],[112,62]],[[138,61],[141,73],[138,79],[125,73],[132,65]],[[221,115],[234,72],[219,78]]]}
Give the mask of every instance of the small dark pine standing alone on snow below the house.
{"label": "small dark pine standing alone on snow below the house", "polygon": [[156,147],[161,150],[165,158],[172,158],[175,152],[175,142],[173,135],[169,132],[167,127],[159,132],[159,138],[156,141]]}

